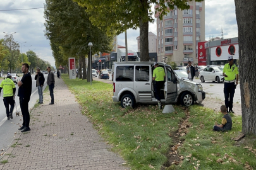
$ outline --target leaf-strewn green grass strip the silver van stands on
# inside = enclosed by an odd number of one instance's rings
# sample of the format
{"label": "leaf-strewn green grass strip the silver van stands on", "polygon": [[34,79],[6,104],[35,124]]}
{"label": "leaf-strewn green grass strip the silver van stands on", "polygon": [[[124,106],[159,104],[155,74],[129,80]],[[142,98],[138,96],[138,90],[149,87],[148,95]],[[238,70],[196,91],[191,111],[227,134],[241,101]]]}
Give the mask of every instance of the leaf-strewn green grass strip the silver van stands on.
{"label": "leaf-strewn green grass strip the silver van stands on", "polygon": [[235,142],[241,133],[241,116],[231,115],[230,132],[212,132],[221,113],[193,105],[174,105],[162,114],[156,105],[123,109],[112,101],[113,85],[86,80],[64,82],[75,94],[99,134],[125,159],[131,169],[245,169],[255,168],[255,137]]}

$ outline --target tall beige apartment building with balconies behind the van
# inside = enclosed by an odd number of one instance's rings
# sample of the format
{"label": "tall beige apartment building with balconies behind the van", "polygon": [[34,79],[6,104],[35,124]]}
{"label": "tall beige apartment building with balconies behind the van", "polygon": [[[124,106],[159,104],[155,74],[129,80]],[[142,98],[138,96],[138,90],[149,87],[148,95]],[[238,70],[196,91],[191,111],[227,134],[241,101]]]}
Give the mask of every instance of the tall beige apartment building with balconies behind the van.
{"label": "tall beige apartment building with balconies behind the van", "polygon": [[[190,9],[173,9],[157,18],[157,60],[178,65],[198,63],[198,42],[205,41],[205,2],[188,1]],[[158,5],[155,6],[157,8]]]}

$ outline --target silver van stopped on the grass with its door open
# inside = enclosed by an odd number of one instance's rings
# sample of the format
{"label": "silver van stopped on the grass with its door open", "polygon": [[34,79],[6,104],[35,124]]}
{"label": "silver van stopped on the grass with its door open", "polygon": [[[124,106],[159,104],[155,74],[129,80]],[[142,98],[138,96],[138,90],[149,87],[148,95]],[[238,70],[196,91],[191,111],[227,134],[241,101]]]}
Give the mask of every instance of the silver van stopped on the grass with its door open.
{"label": "silver van stopped on the grass with its door open", "polygon": [[[135,107],[135,103],[155,103],[154,83],[152,81],[154,62],[114,62],[113,101],[121,101],[121,106]],[[180,103],[190,106],[195,101],[201,103],[205,92],[200,83],[179,79],[171,66],[158,62],[166,72],[166,82],[161,89],[163,104]]]}

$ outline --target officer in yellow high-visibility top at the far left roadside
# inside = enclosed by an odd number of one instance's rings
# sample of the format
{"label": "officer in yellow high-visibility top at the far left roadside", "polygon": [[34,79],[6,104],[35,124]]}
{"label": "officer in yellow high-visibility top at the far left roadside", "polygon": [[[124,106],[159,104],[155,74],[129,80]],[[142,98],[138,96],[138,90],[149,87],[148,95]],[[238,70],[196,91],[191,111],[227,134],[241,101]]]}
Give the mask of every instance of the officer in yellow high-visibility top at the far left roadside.
{"label": "officer in yellow high-visibility top at the far left roadside", "polygon": [[[15,84],[11,80],[11,74],[7,74],[6,79],[4,79],[0,84],[0,95],[3,89],[3,97],[4,97],[4,106],[6,108],[6,116],[7,119],[13,119],[13,108],[15,106]],[[11,105],[11,109],[9,110],[9,105]]]}

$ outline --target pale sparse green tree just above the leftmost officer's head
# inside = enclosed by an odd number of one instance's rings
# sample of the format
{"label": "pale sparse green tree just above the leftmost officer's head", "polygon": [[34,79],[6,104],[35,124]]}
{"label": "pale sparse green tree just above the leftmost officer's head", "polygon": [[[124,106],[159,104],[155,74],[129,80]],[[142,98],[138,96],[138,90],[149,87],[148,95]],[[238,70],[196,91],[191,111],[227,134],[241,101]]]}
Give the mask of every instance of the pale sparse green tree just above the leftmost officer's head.
{"label": "pale sparse green tree just above the leftmost officer's head", "polygon": [[18,57],[20,54],[20,45],[19,43],[15,42],[13,35],[5,35],[4,36],[4,46],[9,50],[9,54],[7,56],[7,60],[9,62],[9,72],[14,70],[18,65]]}

